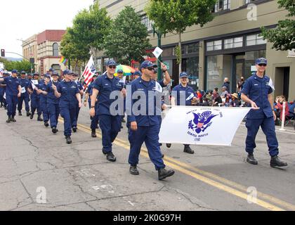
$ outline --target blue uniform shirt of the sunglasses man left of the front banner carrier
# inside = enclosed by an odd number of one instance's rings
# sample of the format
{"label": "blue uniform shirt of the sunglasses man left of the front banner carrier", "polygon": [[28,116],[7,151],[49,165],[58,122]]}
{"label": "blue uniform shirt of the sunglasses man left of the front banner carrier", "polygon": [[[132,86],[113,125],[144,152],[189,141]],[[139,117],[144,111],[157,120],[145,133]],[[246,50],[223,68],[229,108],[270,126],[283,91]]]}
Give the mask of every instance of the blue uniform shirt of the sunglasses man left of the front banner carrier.
{"label": "blue uniform shirt of the sunglasses man left of the front banner carrier", "polygon": [[112,91],[122,91],[123,84],[118,77],[110,79],[107,75],[101,75],[93,82],[93,89],[98,92],[98,104],[96,104],[96,114],[98,115],[111,115],[110,105],[115,101],[110,99]]}

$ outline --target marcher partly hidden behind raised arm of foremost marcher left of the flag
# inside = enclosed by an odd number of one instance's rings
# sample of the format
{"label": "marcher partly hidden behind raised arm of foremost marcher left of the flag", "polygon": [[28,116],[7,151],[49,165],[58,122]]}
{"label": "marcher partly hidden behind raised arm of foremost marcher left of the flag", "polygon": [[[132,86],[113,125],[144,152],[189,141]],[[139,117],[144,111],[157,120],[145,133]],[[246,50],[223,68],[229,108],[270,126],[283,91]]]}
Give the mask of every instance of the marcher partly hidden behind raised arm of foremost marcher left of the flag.
{"label": "marcher partly hidden behind raised arm of foremost marcher left of the flag", "polygon": [[58,72],[53,72],[52,81],[47,84],[47,110],[49,114],[51,131],[53,134],[58,132],[58,117],[60,115],[59,98],[54,94],[53,86],[58,86]]}

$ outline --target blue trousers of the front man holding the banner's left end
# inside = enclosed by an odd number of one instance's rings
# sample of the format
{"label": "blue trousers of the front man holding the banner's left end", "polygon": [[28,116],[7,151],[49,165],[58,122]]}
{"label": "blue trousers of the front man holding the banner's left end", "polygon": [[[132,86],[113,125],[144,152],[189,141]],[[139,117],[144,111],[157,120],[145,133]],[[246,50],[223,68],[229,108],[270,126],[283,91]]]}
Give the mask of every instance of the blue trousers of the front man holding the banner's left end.
{"label": "blue trousers of the front man holding the banner's left end", "polygon": [[162,160],[162,153],[159,148],[159,125],[152,125],[149,127],[138,127],[137,131],[130,129],[128,125],[128,139],[130,142],[129,164],[138,165],[138,158],[140,154],[140,148],[145,142],[150,160],[155,165],[156,170],[165,167]]}

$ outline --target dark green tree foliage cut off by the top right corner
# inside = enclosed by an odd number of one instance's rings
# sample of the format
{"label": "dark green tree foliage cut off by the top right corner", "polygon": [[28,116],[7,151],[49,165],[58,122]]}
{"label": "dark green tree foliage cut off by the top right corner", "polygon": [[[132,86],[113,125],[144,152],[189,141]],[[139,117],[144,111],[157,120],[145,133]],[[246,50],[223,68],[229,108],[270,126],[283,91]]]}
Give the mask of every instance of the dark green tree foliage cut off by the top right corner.
{"label": "dark green tree foliage cut off by the top right corner", "polygon": [[273,49],[287,51],[295,49],[295,1],[279,0],[279,8],[286,8],[289,13],[288,18],[293,19],[280,20],[275,29],[266,29],[261,27],[263,39],[273,43]]}

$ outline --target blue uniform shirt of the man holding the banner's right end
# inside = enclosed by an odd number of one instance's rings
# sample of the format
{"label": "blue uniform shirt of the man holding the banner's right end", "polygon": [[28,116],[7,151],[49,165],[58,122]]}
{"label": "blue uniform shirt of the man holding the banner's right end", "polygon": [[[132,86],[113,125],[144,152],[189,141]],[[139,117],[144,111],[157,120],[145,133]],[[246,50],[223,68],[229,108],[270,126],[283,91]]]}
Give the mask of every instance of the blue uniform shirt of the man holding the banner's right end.
{"label": "blue uniform shirt of the man holding the banner's right end", "polygon": [[244,83],[242,93],[247,95],[251,101],[254,101],[259,110],[250,110],[247,114],[247,119],[262,119],[273,117],[273,110],[268,101],[268,94],[273,93],[273,89],[269,85],[270,77],[252,75]]}

